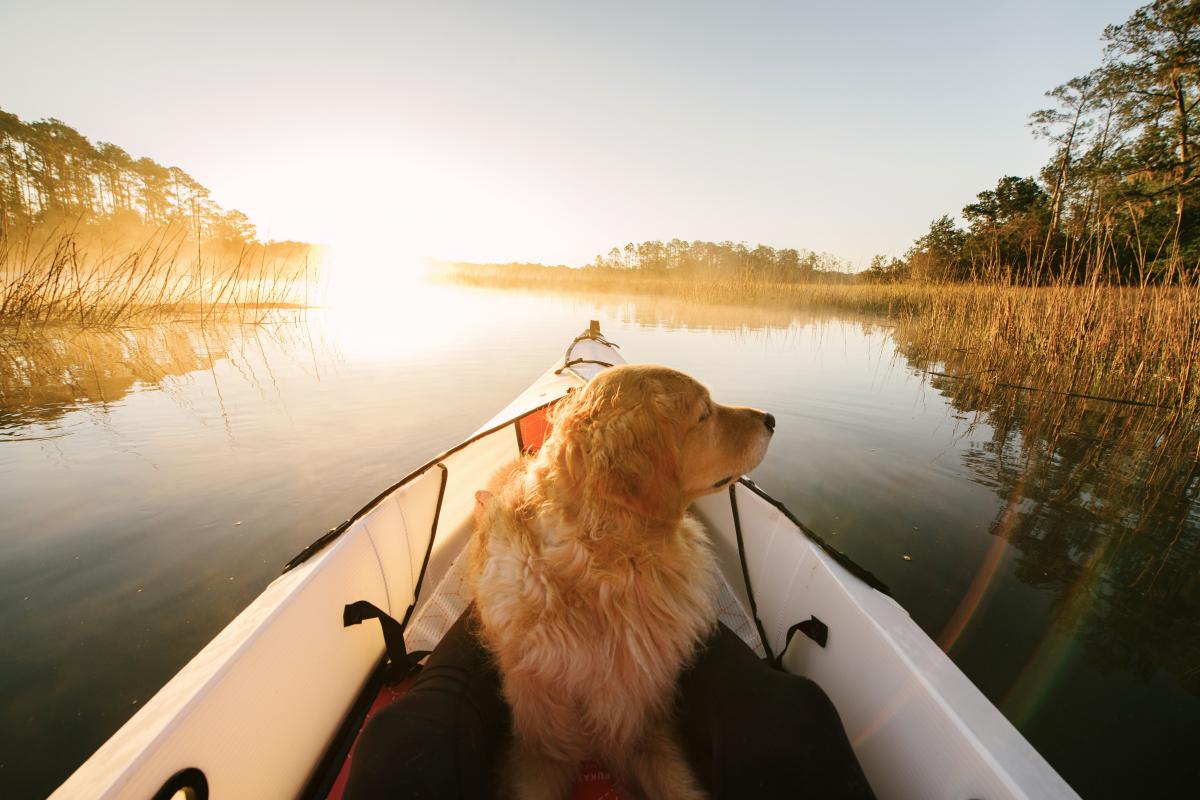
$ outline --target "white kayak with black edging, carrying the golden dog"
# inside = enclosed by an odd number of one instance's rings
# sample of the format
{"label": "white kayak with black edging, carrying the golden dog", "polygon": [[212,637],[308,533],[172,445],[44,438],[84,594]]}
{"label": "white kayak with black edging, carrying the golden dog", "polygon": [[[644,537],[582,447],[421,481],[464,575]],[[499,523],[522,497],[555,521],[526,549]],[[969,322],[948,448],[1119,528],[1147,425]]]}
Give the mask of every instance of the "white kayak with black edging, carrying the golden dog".
{"label": "white kayak with black edging, carrying the golden dog", "polygon": [[[293,559],[53,796],[340,796],[389,691],[379,626],[354,624],[361,601],[398,621],[394,656],[401,631],[408,652],[431,650],[467,604],[456,559],[475,489],[540,445],[550,404],[623,361],[593,323],[479,432]],[[719,555],[721,619],[824,688],[881,800],[1078,796],[884,587],[766,492],[742,480],[694,511]]]}

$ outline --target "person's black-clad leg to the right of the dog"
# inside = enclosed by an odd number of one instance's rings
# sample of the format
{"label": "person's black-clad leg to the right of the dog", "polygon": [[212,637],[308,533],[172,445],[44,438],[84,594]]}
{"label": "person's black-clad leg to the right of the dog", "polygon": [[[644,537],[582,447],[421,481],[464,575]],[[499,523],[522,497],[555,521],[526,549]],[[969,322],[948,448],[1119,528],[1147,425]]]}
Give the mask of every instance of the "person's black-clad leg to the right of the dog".
{"label": "person's black-clad leg to the right of the dog", "polygon": [[875,796],[821,687],[772,669],[724,625],[679,691],[680,733],[713,800]]}

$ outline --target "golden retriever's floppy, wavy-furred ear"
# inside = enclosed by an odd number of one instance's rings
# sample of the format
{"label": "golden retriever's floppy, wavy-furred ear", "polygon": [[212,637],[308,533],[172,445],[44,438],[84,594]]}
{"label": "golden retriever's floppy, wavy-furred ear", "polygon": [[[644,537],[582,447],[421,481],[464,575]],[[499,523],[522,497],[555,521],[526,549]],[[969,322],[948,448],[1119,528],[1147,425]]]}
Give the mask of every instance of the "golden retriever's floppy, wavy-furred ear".
{"label": "golden retriever's floppy, wavy-furred ear", "polygon": [[589,500],[652,518],[678,517],[684,499],[672,402],[654,383],[588,389],[556,408],[559,470]]}

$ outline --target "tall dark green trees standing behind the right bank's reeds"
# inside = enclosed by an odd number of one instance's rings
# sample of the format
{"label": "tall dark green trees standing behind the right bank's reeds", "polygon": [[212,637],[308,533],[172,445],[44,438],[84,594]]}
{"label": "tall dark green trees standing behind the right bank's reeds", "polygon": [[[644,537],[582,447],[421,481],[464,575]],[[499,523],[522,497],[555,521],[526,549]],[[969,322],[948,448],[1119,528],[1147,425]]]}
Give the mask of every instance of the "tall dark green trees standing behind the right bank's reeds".
{"label": "tall dark green trees standing behind the right bank's reeds", "polygon": [[1103,35],[1100,66],[1030,115],[1040,174],[935,219],[872,281],[1176,282],[1200,275],[1200,0],[1156,0]]}

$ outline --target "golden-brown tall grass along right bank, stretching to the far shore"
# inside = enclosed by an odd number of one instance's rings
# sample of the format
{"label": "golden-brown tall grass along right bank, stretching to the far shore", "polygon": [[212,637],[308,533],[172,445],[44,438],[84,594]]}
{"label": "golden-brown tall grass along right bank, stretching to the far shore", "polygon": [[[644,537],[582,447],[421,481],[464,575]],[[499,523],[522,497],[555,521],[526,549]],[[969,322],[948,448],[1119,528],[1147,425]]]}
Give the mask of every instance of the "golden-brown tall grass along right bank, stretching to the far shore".
{"label": "golden-brown tall grass along right bank, stretching to the far shore", "polygon": [[623,270],[454,266],[496,288],[664,294],[689,302],[812,307],[890,318],[919,368],[982,386],[1200,410],[1200,285],[769,283]]}

